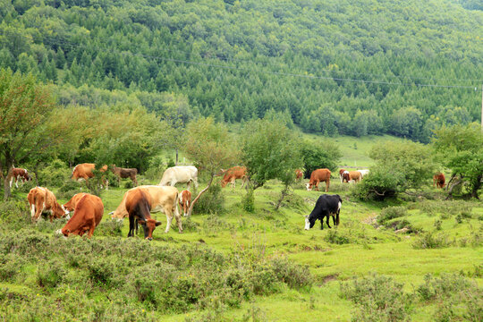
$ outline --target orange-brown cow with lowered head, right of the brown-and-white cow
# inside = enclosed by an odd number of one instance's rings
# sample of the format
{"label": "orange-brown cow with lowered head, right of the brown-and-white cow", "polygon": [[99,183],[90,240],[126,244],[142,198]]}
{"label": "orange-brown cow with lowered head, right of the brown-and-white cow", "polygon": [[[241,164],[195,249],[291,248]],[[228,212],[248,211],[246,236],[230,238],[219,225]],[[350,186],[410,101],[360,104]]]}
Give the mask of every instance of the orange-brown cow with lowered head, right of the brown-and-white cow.
{"label": "orange-brown cow with lowered head, right of the brown-and-white cow", "polygon": [[104,214],[102,200],[90,193],[78,193],[67,204],[69,204],[68,207],[73,206],[74,214],[64,228],[58,230],[57,233],[69,237],[72,234],[82,236],[88,232],[88,237],[92,237],[94,229],[99,225]]}

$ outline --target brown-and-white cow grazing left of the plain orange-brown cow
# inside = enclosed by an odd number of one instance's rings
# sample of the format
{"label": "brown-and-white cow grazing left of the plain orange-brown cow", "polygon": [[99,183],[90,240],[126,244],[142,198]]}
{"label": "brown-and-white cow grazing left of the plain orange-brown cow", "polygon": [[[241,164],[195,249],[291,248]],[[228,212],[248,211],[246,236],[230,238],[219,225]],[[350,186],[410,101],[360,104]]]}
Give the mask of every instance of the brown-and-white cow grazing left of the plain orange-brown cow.
{"label": "brown-and-white cow grazing left of the plain orange-brown cow", "polygon": [[32,222],[37,222],[42,213],[49,214],[50,222],[54,218],[61,218],[69,214],[64,206],[58,204],[54,193],[47,188],[35,187],[30,189],[27,199],[29,200]]}

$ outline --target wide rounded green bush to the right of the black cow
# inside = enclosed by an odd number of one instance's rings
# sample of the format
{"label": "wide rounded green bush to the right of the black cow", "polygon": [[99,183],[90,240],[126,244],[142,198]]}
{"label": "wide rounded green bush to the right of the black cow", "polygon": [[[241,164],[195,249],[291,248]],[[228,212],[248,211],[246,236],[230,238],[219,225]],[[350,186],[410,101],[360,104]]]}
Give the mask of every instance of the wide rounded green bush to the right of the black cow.
{"label": "wide rounded green bush to the right of the black cow", "polygon": [[427,146],[405,141],[375,146],[369,157],[376,161],[370,173],[358,185],[361,199],[385,199],[429,182],[436,170]]}

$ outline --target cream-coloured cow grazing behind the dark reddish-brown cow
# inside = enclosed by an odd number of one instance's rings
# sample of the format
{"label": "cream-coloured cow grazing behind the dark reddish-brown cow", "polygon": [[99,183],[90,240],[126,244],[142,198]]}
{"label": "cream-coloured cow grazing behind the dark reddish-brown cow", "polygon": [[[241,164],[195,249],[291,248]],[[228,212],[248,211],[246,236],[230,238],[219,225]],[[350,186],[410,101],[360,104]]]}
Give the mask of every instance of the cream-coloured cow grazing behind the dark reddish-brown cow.
{"label": "cream-coloured cow grazing behind the dark reddish-brown cow", "polygon": [[[178,190],[175,187],[160,187],[155,185],[145,185],[145,186],[132,188],[131,190],[126,191],[126,193],[124,193],[121,204],[109,215],[112,215],[111,217],[113,219],[115,218],[123,219],[125,216],[129,216],[129,210],[127,208],[126,202],[128,198],[131,198],[130,195],[134,193],[134,191],[138,191],[138,190],[143,191],[144,196],[147,197],[149,211],[151,213],[156,213],[159,211],[165,213],[166,219],[167,219],[165,233],[169,232],[169,228],[171,227],[171,222],[173,221],[173,215],[176,218],[178,231],[182,233],[182,221],[181,221],[181,216],[180,216],[180,213],[178,212],[178,206],[177,206],[178,198],[179,198]],[[130,222],[131,222],[131,219],[130,219]]]}

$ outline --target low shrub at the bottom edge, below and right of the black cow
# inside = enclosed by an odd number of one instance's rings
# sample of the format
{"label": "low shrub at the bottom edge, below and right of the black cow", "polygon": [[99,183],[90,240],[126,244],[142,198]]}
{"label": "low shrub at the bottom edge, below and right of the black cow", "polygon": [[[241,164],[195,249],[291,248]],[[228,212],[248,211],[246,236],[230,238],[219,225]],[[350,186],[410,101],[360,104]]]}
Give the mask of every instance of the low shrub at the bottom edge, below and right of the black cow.
{"label": "low shrub at the bottom edge, below and right of the black cow", "polygon": [[358,307],[353,321],[402,321],[409,318],[412,303],[402,287],[391,277],[373,274],[341,284],[341,296]]}

